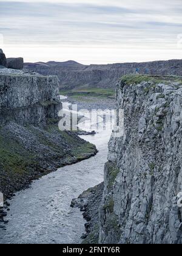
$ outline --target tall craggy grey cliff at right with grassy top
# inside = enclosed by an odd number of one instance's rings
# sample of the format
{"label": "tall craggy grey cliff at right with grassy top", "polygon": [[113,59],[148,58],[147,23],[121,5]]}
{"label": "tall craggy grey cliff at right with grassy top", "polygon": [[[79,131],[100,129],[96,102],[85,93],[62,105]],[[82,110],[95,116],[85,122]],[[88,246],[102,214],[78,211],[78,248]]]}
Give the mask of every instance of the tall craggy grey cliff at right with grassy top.
{"label": "tall craggy grey cliff at right with grassy top", "polygon": [[135,80],[116,89],[125,132],[109,142],[99,243],[181,244],[181,78]]}

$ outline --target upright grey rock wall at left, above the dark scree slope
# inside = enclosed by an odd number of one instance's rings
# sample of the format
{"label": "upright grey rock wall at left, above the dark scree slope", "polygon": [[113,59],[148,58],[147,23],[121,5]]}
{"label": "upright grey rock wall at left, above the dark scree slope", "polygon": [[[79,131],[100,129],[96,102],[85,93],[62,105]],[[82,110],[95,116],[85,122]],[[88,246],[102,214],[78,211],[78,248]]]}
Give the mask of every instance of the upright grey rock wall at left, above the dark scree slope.
{"label": "upright grey rock wall at left, above the dark scree slope", "polygon": [[45,123],[47,118],[57,118],[61,109],[56,76],[1,69],[0,92],[1,125]]}

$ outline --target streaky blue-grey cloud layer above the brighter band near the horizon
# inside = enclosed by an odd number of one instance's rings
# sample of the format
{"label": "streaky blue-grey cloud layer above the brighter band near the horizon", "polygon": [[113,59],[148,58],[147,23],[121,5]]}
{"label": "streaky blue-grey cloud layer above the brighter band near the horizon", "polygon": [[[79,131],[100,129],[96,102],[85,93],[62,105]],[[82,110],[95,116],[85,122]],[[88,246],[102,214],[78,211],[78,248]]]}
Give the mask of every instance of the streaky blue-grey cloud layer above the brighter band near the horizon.
{"label": "streaky blue-grey cloud layer above the brighter band near the horizon", "polygon": [[181,0],[0,0],[5,44],[172,49]]}

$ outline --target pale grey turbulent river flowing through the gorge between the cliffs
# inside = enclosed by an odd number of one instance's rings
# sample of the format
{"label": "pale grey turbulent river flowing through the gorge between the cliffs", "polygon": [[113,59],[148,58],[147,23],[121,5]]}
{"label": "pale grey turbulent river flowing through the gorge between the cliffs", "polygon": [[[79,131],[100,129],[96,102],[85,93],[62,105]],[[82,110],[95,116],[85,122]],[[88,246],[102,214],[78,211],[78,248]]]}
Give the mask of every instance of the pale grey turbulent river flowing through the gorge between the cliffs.
{"label": "pale grey turbulent river flowing through the gorge between the cliffs", "polygon": [[86,221],[70,202],[103,181],[110,133],[81,136],[96,145],[95,157],[59,168],[16,193],[5,218],[6,230],[0,230],[0,243],[81,243]]}

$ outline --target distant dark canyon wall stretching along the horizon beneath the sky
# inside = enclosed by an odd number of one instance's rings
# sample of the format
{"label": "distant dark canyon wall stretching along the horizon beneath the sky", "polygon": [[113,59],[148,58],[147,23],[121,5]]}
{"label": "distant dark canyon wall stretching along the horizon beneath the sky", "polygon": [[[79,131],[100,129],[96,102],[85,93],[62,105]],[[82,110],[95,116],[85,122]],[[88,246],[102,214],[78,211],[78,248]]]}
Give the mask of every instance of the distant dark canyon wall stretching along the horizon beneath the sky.
{"label": "distant dark canyon wall stretching along the horizon beneath the sky", "polygon": [[24,68],[43,75],[59,77],[60,88],[103,87],[115,88],[116,81],[125,74],[178,75],[182,76],[182,60],[116,63],[109,65],[81,65],[77,62],[24,63]]}

